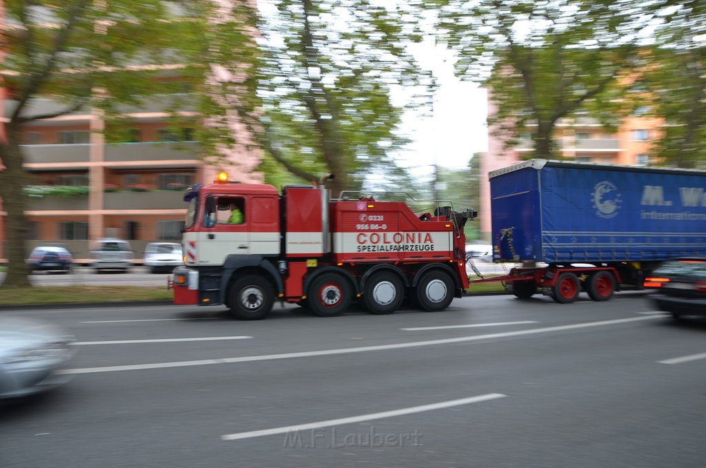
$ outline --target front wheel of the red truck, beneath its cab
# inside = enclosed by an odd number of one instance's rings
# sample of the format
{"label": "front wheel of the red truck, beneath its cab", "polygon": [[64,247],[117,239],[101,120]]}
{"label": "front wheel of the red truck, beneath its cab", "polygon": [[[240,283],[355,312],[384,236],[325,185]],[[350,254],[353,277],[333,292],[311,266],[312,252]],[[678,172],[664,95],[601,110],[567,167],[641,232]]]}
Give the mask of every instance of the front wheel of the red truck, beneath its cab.
{"label": "front wheel of the red truck, beneath its cab", "polygon": [[270,314],[274,302],[272,284],[257,275],[237,279],[228,293],[230,314],[238,320],[262,320]]}

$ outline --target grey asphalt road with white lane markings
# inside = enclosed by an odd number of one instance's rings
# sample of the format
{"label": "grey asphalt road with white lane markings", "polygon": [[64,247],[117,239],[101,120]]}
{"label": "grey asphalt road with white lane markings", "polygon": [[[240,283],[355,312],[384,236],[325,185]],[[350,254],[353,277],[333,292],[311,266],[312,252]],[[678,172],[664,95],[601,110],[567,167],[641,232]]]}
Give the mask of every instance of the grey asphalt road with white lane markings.
{"label": "grey asphalt road with white lane markings", "polygon": [[[71,382],[0,411],[0,466],[702,467],[706,322],[644,293],[445,312],[23,310]],[[208,340],[207,340],[208,339]],[[669,361],[683,356],[685,360]]]}

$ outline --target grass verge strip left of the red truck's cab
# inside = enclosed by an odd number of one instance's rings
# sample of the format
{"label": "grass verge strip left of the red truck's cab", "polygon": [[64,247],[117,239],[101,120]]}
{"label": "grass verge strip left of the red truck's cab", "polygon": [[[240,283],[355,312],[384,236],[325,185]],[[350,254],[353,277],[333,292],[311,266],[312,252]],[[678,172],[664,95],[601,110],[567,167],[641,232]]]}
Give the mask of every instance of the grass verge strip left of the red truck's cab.
{"label": "grass verge strip left of the red truck's cab", "polygon": [[112,303],[132,300],[171,300],[164,286],[34,286],[0,288],[1,305]]}

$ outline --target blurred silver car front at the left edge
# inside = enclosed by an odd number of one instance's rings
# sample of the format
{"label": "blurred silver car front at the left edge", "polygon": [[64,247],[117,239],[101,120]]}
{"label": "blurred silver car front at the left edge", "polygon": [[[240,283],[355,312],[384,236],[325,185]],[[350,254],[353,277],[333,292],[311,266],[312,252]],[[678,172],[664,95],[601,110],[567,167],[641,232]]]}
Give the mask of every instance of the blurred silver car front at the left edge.
{"label": "blurred silver car front at the left edge", "polygon": [[75,353],[60,327],[25,317],[0,317],[0,399],[26,397],[68,381],[55,372]]}

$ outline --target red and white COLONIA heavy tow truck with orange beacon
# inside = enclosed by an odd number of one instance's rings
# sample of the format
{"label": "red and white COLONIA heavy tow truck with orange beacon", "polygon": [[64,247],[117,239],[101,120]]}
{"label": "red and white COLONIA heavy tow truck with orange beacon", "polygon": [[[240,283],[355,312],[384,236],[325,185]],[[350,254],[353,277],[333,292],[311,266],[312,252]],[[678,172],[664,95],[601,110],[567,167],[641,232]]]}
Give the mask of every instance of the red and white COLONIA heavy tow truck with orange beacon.
{"label": "red and white COLONIA heavy tow truck with orange beacon", "polygon": [[[226,305],[238,319],[259,320],[275,299],[332,317],[353,301],[390,314],[405,299],[438,311],[462,296],[463,228],[474,211],[435,201],[418,215],[393,194],[330,199],[330,179],[277,192],[228,182],[221,173],[213,184],[190,187],[174,303]],[[234,209],[239,223],[232,222]]]}

